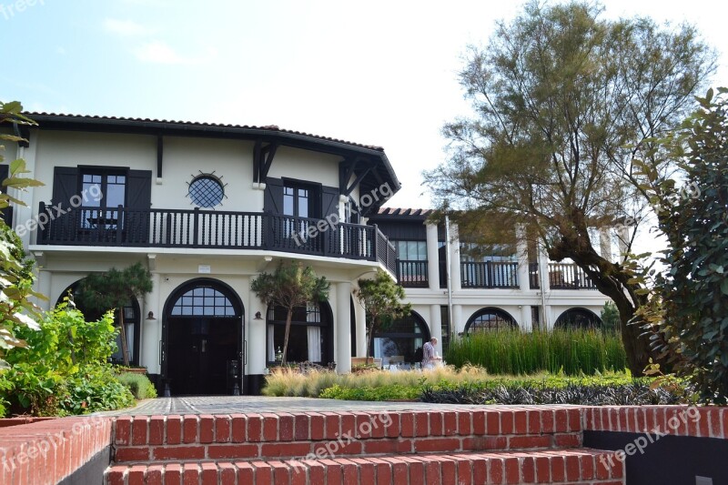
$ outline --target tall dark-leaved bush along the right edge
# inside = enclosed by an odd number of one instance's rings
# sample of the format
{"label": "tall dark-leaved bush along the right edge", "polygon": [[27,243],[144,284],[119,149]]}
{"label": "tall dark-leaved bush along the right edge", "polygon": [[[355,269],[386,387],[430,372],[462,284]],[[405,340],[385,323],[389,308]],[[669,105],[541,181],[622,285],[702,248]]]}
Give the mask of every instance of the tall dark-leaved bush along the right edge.
{"label": "tall dark-leaved bush along the right edge", "polygon": [[[675,177],[645,167],[659,227],[670,242],[661,262],[647,321],[664,338],[652,344],[689,377],[703,402],[728,403],[728,89],[698,98],[700,109],[682,130],[662,143],[684,174]],[[652,271],[654,272],[654,271]]]}

